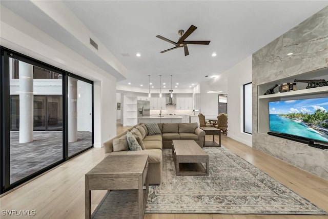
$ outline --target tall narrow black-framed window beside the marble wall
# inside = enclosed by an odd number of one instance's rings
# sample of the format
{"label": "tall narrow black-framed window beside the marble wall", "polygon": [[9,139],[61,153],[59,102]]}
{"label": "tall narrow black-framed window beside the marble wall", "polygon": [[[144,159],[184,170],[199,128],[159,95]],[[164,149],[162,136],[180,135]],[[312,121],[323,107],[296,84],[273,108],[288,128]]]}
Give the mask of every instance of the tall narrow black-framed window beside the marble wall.
{"label": "tall narrow black-framed window beside the marble wall", "polygon": [[243,131],[252,134],[252,83],[243,85]]}

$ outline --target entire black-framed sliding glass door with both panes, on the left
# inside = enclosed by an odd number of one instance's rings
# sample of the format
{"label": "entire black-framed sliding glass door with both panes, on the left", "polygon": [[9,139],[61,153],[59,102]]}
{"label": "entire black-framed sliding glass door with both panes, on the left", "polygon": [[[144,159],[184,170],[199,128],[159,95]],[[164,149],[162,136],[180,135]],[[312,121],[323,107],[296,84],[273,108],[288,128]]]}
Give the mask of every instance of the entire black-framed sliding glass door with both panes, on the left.
{"label": "entire black-framed sliding glass door with both panes, on the left", "polygon": [[3,193],[93,147],[93,83],[1,50]]}

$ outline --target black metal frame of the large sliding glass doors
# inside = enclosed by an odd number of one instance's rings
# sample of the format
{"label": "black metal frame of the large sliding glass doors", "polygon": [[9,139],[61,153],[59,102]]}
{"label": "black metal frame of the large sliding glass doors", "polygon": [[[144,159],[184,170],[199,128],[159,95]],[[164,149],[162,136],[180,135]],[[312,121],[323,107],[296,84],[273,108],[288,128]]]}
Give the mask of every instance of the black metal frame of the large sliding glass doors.
{"label": "black metal frame of the large sliding glass doors", "polygon": [[[94,87],[93,82],[89,79],[83,78],[81,76],[69,73],[67,71],[61,70],[59,68],[56,68],[54,66],[51,66],[49,64],[43,63],[38,61],[37,59],[34,59],[32,57],[26,56],[24,54],[15,52],[13,50],[10,50],[8,48],[0,46],[1,51],[1,69],[0,69],[0,102],[1,102],[1,111],[0,111],[0,122],[1,122],[1,129],[0,129],[0,194],[3,194],[14,187],[17,187],[18,185],[21,185],[35,176],[42,174],[49,169],[64,163],[71,157],[74,157],[80,153],[83,153],[84,151],[90,149],[93,147],[94,144]],[[55,71],[63,75],[62,79],[62,95],[63,95],[63,157],[60,161],[57,161],[53,164],[48,165],[47,167],[40,169],[29,176],[26,176],[22,178],[21,180],[18,180],[12,184],[10,184],[10,72],[9,72],[9,58],[15,58],[19,61],[35,65],[41,68],[45,68],[47,70]],[[84,81],[86,83],[90,83],[92,85],[92,145],[84,150],[81,150],[78,153],[75,153],[71,156],[68,154],[68,76],[77,78],[81,81]]]}

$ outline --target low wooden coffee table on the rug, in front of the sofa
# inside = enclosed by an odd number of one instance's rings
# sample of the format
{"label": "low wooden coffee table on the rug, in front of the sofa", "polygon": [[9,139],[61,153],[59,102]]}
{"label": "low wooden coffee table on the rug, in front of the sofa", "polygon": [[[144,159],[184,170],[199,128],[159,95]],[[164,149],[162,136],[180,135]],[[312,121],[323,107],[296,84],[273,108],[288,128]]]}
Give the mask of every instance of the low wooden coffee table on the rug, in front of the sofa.
{"label": "low wooden coffee table on the rug, in front of the sofa", "polygon": [[194,140],[172,142],[176,175],[209,175],[209,155]]}

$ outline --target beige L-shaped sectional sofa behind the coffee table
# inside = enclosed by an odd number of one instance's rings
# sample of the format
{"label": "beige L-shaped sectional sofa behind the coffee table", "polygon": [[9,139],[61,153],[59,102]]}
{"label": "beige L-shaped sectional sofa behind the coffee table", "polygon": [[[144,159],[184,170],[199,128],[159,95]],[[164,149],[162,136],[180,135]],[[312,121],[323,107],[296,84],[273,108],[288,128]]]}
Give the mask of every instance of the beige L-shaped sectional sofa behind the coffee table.
{"label": "beige L-shaped sectional sofa behind the coffee table", "polygon": [[[121,146],[119,149],[117,149],[116,145],[118,142],[120,142],[121,145],[127,144],[125,137],[128,131],[122,132],[121,134],[104,143],[105,153],[110,153],[110,155],[148,154],[148,174],[149,184],[151,185],[160,184],[162,181],[162,148],[172,148],[172,140],[195,140],[195,142],[200,147],[203,147],[203,136],[205,135],[205,132],[198,127],[197,123],[158,123],[157,125],[161,132],[159,134],[149,135],[147,133],[147,127],[145,124],[137,124],[128,130],[135,135],[138,135],[139,133],[144,135],[142,136],[141,143],[144,145],[144,150],[129,150],[127,146]],[[145,133],[142,134],[143,130],[145,129],[146,135]],[[138,132],[137,130],[140,131]]]}

